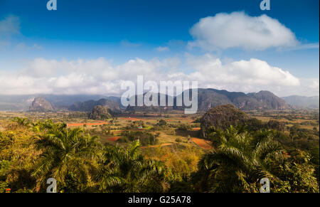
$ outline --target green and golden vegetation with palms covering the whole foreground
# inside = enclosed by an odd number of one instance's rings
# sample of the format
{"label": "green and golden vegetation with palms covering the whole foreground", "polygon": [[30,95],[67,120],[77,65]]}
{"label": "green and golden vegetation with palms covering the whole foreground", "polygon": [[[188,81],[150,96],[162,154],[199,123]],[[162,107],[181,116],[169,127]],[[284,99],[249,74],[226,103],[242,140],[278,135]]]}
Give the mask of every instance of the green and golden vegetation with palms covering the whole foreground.
{"label": "green and golden vegetation with palms covering the whole foreground", "polygon": [[[190,144],[196,117],[190,124],[130,121],[126,127],[114,119],[92,128],[16,117],[0,131],[0,192],[45,192],[51,177],[59,192],[259,192],[265,177],[272,192],[319,192],[317,128],[262,122],[230,106],[211,112],[229,117],[207,125],[203,138],[214,147],[207,151]],[[241,122],[230,123],[233,115]],[[203,117],[202,123],[215,116]],[[102,144],[97,135],[112,127],[123,129],[123,138]],[[160,133],[186,138],[173,147],[143,148],[159,144]]]}

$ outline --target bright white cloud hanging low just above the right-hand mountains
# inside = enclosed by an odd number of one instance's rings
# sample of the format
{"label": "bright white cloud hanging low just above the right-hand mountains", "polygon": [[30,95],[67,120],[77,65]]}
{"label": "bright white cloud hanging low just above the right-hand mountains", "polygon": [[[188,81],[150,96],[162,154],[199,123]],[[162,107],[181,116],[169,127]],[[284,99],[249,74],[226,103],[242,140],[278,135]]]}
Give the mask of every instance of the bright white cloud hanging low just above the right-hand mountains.
{"label": "bright white cloud hanging low just above the right-hand mountains", "polygon": [[189,63],[196,68],[196,72],[191,75],[195,75],[203,83],[234,87],[233,90],[243,87],[254,89],[265,85],[299,85],[299,79],[288,71],[272,67],[267,62],[257,59],[240,60],[223,65],[219,58],[207,54],[201,58],[191,56]]}

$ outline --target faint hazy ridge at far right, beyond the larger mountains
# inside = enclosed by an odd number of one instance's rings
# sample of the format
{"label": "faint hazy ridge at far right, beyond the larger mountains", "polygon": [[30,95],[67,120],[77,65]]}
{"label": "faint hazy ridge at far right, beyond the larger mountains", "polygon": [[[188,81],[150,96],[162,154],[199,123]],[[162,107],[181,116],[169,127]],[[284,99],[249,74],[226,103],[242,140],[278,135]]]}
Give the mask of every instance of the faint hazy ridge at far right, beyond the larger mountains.
{"label": "faint hazy ridge at far right, beyond the larger mountains", "polygon": [[302,108],[310,108],[310,109],[319,109],[319,96],[299,96],[299,95],[291,95],[288,97],[282,97],[289,105],[293,107],[302,107]]}

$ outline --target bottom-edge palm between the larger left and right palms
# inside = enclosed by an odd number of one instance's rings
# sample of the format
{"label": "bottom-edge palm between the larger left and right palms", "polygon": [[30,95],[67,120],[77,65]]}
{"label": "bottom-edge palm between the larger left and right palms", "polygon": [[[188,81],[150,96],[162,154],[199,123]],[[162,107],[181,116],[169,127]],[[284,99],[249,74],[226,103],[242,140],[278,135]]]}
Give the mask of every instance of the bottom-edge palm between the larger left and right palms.
{"label": "bottom-edge palm between the larger left and right palms", "polygon": [[164,181],[164,165],[146,160],[139,153],[139,141],[127,149],[106,147],[104,161],[95,177],[104,192],[158,192],[168,186]]}

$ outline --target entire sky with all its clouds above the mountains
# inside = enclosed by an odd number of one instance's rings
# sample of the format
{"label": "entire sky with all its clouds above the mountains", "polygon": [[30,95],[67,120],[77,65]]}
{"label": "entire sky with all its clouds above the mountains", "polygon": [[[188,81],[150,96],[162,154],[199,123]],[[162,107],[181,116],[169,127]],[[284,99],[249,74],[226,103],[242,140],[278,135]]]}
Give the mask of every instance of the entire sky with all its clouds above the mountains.
{"label": "entire sky with all its clouds above the mountains", "polygon": [[126,80],[319,95],[319,1],[0,0],[0,94],[117,95]]}

